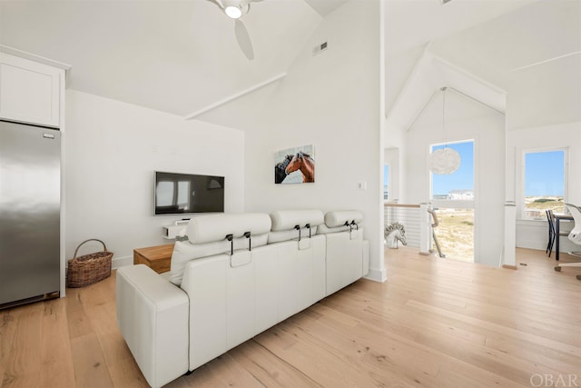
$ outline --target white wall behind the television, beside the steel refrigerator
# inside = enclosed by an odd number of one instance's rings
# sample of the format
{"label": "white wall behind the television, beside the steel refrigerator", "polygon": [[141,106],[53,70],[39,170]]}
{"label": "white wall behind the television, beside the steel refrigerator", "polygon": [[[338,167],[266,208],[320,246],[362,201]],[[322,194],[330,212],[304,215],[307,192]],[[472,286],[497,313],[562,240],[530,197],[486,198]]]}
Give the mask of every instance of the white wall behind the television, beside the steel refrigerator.
{"label": "white wall behind the television, beside the steel refrigerator", "polygon": [[223,175],[225,211],[243,211],[241,131],[68,90],[64,147],[67,259],[89,238],[107,244],[113,265],[133,263],[134,248],[171,243],[161,227],[181,217],[153,216],[154,170]]}

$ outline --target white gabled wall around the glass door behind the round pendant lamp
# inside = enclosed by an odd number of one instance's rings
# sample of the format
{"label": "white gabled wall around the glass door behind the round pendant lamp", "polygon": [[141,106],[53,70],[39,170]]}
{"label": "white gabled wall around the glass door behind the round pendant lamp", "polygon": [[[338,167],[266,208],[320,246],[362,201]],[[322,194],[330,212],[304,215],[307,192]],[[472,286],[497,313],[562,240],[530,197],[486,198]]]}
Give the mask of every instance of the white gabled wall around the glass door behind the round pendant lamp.
{"label": "white gabled wall around the glass door behind the round pendant lamp", "polygon": [[[468,107],[472,118],[446,122],[448,142],[474,139],[475,168],[475,262],[497,266],[504,242],[505,202],[505,117],[486,107],[467,103],[465,97],[448,94],[448,116],[465,114]],[[426,114],[439,111],[439,124],[424,124],[419,119],[408,132],[407,145],[402,151],[406,170],[401,176],[406,180],[405,198],[402,204],[420,204],[429,201],[428,153],[430,144],[443,141],[441,124],[441,99],[436,98],[428,106]],[[472,106],[469,106],[472,105]],[[455,113],[459,111],[459,113]],[[433,116],[433,115],[432,115]],[[431,121],[430,121],[431,123]]]}

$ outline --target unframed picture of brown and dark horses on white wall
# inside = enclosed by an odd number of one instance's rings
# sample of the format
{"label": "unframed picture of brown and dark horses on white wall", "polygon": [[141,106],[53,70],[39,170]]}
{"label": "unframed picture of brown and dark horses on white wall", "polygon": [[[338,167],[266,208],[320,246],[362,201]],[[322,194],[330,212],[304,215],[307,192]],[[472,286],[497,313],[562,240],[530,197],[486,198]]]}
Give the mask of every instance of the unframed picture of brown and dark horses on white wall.
{"label": "unframed picture of brown and dark horses on white wall", "polygon": [[275,184],[302,184],[315,182],[313,145],[281,150],[274,157]]}

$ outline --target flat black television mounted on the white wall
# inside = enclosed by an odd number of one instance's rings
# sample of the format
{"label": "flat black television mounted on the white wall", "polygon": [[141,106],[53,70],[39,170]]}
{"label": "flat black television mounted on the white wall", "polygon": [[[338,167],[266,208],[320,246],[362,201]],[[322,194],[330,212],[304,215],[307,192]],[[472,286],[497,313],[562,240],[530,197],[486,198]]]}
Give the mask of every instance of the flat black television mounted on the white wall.
{"label": "flat black television mounted on the white wall", "polygon": [[155,215],[224,211],[224,177],[155,172]]}

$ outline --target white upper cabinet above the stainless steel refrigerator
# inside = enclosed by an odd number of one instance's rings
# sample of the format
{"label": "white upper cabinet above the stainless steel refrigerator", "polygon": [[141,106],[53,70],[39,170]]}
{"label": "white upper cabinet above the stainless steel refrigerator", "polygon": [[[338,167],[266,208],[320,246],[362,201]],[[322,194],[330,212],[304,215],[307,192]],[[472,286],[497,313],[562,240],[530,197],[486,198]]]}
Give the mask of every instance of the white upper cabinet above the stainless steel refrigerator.
{"label": "white upper cabinet above the stainless steel refrigerator", "polygon": [[61,126],[64,70],[0,52],[0,118]]}

